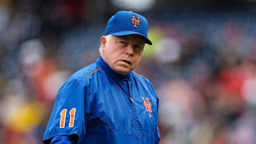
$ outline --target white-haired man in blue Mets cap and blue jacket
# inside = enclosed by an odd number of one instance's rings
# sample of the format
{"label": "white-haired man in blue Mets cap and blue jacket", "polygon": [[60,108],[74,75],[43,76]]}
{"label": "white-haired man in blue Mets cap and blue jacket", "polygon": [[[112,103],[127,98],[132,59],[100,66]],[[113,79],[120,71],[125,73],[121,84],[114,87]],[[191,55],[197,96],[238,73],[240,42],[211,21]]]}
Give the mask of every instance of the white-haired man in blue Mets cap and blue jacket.
{"label": "white-haired man in blue Mets cap and blue jacket", "polygon": [[98,60],[59,89],[44,143],[159,143],[157,94],[133,72],[152,45],[147,30],[132,11],[109,19]]}

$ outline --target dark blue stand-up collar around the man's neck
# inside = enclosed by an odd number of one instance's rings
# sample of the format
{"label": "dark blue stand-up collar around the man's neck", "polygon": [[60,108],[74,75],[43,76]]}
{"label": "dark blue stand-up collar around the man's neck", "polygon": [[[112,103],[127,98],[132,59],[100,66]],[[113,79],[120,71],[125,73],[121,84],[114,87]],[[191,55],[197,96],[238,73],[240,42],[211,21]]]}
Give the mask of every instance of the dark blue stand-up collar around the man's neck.
{"label": "dark blue stand-up collar around the man's neck", "polygon": [[104,61],[104,59],[99,55],[99,58],[95,62],[97,66],[99,66],[109,77],[114,79],[115,81],[128,81],[128,83],[131,82],[132,76],[131,73],[127,75],[122,75],[114,72],[110,66]]}

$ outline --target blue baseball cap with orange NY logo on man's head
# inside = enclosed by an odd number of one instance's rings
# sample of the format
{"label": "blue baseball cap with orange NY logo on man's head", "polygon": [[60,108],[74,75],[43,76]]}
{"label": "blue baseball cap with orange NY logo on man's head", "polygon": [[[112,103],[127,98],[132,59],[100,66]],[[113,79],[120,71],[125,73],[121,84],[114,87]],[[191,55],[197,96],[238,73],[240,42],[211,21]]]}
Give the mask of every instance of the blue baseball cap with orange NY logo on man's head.
{"label": "blue baseball cap with orange NY logo on man's head", "polygon": [[145,39],[147,44],[152,45],[152,42],[147,38],[148,29],[149,23],[145,17],[132,11],[121,10],[107,22],[105,36],[108,34],[114,36],[138,34]]}

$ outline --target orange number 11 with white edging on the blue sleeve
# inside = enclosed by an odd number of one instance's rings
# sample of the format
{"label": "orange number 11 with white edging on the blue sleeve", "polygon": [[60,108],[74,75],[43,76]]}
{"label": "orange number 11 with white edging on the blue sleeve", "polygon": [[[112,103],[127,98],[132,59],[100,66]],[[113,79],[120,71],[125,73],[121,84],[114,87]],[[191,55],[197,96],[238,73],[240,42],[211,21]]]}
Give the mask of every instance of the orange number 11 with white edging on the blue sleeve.
{"label": "orange number 11 with white edging on the blue sleeve", "polygon": [[[67,109],[63,109],[61,111],[61,114],[60,114],[61,115],[61,121],[59,122],[59,128],[64,128],[65,127],[66,112],[67,112]],[[69,127],[73,127],[74,126],[74,119],[75,119],[75,108],[73,108],[69,111],[69,115],[70,115]]]}

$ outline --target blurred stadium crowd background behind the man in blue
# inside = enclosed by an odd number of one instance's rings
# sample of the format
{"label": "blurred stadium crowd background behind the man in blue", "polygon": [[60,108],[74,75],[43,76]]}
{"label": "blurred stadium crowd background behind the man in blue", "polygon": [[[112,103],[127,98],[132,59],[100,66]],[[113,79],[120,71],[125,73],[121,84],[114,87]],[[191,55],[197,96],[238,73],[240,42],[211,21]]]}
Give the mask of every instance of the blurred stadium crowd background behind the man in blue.
{"label": "blurred stadium crowd background behind the man in blue", "polygon": [[42,143],[119,10],[149,21],[135,72],[158,93],[161,144],[256,143],[256,0],[0,0],[0,143]]}

